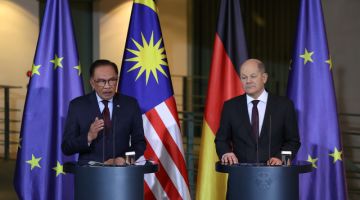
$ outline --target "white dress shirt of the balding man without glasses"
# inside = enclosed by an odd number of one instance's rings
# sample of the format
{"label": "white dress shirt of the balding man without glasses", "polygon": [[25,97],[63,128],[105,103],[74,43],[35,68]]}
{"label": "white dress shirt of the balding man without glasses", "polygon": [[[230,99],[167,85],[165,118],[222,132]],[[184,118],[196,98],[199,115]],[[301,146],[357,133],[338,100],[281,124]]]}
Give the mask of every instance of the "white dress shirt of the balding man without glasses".
{"label": "white dress shirt of the balding man without glasses", "polygon": [[248,113],[249,113],[249,117],[250,117],[250,123],[251,122],[251,116],[252,116],[252,107],[253,107],[253,100],[259,100],[259,103],[257,105],[258,111],[259,111],[259,136],[261,133],[261,127],[263,125],[264,122],[264,116],[265,116],[265,110],[266,110],[266,103],[267,103],[267,99],[268,99],[268,92],[266,92],[266,90],[264,90],[261,95],[259,96],[258,99],[254,99],[249,95],[246,95],[246,101],[247,101],[247,106],[248,106]]}

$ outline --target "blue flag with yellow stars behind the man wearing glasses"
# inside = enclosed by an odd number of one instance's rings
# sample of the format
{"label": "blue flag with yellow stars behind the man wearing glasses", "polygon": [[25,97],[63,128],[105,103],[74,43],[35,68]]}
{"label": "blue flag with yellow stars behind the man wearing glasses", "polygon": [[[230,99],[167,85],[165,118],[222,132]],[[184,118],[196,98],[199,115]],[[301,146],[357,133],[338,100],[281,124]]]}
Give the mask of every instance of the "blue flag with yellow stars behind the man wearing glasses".
{"label": "blue flag with yellow stars behind the man wearing glasses", "polygon": [[47,0],[20,132],[15,190],[19,199],[73,199],[73,176],[61,152],[68,104],[83,94],[67,0]]}

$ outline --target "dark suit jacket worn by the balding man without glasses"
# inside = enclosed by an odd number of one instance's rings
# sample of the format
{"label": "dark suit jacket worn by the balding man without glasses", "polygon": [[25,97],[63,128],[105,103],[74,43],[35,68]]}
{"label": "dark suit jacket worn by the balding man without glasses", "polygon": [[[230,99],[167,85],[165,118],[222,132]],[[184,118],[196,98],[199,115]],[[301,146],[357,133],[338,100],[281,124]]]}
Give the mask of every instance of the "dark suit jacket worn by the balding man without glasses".
{"label": "dark suit jacket worn by the balding man without glasses", "polygon": [[[234,152],[241,163],[256,162],[257,145],[251,134],[245,94],[224,103],[215,144],[220,159],[223,154]],[[295,156],[299,148],[299,130],[293,103],[286,97],[269,94],[259,137],[259,162],[266,162],[269,157],[281,158],[281,151],[292,151]]]}

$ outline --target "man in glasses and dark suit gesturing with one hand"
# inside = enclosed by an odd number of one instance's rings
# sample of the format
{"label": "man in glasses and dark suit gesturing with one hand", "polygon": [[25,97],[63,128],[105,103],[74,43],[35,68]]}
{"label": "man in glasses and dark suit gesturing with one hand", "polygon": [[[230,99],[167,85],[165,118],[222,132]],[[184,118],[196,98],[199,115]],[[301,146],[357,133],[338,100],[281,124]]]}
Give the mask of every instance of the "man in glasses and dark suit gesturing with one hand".
{"label": "man in glasses and dark suit gesturing with one hand", "polygon": [[127,151],[135,151],[135,158],[139,158],[146,148],[141,111],[134,98],[116,93],[116,64],[95,61],[90,78],[94,91],[70,102],[63,153],[79,153],[80,163],[121,165]]}

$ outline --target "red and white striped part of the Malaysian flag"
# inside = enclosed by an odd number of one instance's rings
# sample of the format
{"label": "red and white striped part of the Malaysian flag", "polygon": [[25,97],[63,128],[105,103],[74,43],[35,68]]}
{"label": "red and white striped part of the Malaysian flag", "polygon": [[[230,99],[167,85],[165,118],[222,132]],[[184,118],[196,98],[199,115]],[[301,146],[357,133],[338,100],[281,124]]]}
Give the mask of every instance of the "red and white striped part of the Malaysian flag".
{"label": "red and white striped part of the Malaysian flag", "polygon": [[155,106],[142,118],[148,143],[144,156],[159,164],[157,173],[145,174],[145,199],[190,199],[174,97]]}

